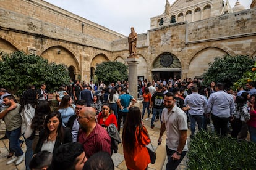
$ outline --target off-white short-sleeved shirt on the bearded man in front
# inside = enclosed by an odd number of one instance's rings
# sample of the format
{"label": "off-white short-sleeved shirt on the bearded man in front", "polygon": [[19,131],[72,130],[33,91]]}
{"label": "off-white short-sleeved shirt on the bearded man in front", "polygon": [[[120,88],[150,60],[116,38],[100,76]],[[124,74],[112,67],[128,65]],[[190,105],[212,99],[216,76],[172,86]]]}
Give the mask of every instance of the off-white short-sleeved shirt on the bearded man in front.
{"label": "off-white short-sleeved shirt on the bearded man in front", "polygon": [[[181,108],[174,105],[173,109],[168,112],[167,108],[163,109],[161,115],[161,121],[166,126],[166,145],[171,150],[177,150],[179,145],[179,131],[187,130],[187,115]],[[187,141],[183,148],[183,151],[187,151]]]}

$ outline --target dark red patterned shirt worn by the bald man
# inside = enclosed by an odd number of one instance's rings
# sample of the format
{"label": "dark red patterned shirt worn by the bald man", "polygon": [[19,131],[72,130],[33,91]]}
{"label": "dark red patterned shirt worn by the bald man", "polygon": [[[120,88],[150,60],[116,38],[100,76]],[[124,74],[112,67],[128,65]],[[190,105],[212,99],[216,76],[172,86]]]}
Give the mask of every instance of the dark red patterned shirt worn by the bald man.
{"label": "dark red patterned shirt worn by the bald man", "polygon": [[93,131],[85,137],[85,132],[82,129],[79,131],[78,142],[83,145],[87,158],[90,158],[94,153],[105,151],[110,153],[111,138],[106,129],[96,124]]}

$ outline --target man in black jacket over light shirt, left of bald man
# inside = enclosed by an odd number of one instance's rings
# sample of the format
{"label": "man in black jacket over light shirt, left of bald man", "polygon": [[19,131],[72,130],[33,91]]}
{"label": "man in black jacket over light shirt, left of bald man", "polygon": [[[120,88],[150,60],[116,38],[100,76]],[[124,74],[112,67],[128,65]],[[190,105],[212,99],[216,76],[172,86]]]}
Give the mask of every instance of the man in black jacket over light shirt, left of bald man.
{"label": "man in black jacket over light shirt, left of bald man", "polygon": [[79,111],[84,107],[86,107],[85,100],[77,101],[77,104],[75,105],[75,115],[71,116],[69,118],[69,121],[67,121],[67,127],[71,129],[73,142],[77,142],[77,135],[80,127],[77,116],[79,114]]}

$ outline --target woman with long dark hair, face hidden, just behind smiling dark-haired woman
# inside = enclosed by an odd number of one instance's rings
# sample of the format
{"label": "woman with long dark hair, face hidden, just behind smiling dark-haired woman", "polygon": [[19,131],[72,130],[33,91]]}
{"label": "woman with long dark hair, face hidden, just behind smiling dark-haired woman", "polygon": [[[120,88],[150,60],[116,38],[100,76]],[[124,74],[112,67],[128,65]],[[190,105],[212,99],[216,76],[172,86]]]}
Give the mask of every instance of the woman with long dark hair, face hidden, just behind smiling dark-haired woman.
{"label": "woman with long dark hair, face hidden, just behind smiling dark-haired woman", "polygon": [[32,144],[33,151],[35,151],[36,145],[38,143],[39,134],[45,128],[45,118],[49,113],[51,113],[51,107],[47,101],[38,103],[35,110],[35,116],[32,119],[31,132],[25,132],[24,134],[24,137],[30,137],[32,132],[35,134]]}

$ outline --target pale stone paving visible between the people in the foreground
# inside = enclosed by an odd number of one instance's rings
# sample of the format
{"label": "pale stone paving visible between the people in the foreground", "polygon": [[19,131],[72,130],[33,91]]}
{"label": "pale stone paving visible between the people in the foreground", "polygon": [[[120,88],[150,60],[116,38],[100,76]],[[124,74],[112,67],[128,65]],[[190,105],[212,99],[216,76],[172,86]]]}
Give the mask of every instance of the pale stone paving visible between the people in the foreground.
{"label": "pale stone paving visible between the people in the foreground", "polygon": [[[140,108],[142,108],[141,105],[142,104],[140,102],[138,102],[138,106]],[[147,113],[145,113],[145,114],[147,115]],[[150,115],[150,119],[148,121],[145,121],[145,119],[143,121],[145,123],[145,127],[147,127],[148,133],[150,134],[150,138],[151,138],[153,147],[156,150],[156,163],[149,164],[148,170],[165,169],[165,165],[166,165],[165,139],[166,139],[166,136],[165,136],[165,134],[163,135],[163,142],[161,145],[158,146],[158,136],[159,136],[159,132],[160,132],[160,121],[155,123],[154,129],[151,129],[150,128],[151,116],[152,115]],[[4,137],[4,132],[5,132],[5,124],[1,120],[0,121],[0,137]],[[121,134],[122,134],[122,129],[121,129]],[[189,134],[190,134],[190,131],[188,133],[188,136],[189,136]],[[151,145],[149,147],[151,147]],[[23,151],[26,150],[25,144],[22,146],[22,150]],[[25,169],[25,161],[23,161],[18,166],[15,166],[14,163],[6,165],[6,162],[7,162],[6,156],[8,155],[8,153],[9,153],[9,140],[8,139],[0,140],[0,167],[1,167],[0,169],[8,169],[8,170],[14,170],[14,169],[23,170],[23,169]],[[119,144],[118,152],[113,153],[112,158],[114,161],[115,170],[127,169],[125,161],[124,161],[122,144]],[[179,167],[177,169],[178,170],[186,169],[186,162],[187,162],[187,157],[185,157],[184,160],[182,160],[181,164],[179,165]]]}

